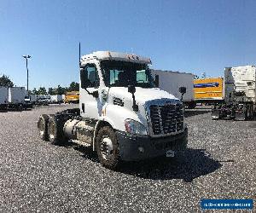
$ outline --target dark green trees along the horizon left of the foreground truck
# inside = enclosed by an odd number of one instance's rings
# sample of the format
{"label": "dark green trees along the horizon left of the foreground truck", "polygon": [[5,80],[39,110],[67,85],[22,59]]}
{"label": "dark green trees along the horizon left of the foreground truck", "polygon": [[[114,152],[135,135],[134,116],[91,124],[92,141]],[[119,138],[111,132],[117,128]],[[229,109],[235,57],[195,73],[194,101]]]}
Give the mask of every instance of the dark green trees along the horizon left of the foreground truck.
{"label": "dark green trees along the horizon left of the foreground truck", "polygon": [[[14,85],[15,83],[13,83],[8,76],[0,76],[0,86],[13,87]],[[61,85],[58,85],[55,88],[50,87],[48,90],[45,87],[39,87],[38,89],[32,89],[32,91],[29,90],[28,93],[34,95],[64,95],[70,91],[79,91],[79,83],[72,82],[68,87],[61,87]]]}

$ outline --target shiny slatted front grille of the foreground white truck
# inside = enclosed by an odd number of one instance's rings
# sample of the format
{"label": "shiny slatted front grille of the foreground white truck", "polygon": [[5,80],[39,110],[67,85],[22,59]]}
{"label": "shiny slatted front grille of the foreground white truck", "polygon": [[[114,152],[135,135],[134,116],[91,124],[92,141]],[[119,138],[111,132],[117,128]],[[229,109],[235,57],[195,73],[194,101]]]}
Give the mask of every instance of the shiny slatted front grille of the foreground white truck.
{"label": "shiny slatted front grille of the foreground white truck", "polygon": [[154,135],[183,130],[182,104],[151,105],[149,111]]}

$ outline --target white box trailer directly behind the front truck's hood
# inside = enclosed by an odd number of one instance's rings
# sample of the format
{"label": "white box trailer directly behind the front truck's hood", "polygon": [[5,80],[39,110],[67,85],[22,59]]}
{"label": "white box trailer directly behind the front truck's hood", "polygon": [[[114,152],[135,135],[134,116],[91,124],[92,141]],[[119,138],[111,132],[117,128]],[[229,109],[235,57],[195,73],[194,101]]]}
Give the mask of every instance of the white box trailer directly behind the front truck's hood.
{"label": "white box trailer directly behind the front truck's hood", "polygon": [[189,108],[195,108],[194,98],[194,75],[186,72],[173,72],[162,70],[151,70],[153,77],[159,76],[159,88],[171,93],[181,99],[180,87],[186,88],[183,95],[183,103]]}

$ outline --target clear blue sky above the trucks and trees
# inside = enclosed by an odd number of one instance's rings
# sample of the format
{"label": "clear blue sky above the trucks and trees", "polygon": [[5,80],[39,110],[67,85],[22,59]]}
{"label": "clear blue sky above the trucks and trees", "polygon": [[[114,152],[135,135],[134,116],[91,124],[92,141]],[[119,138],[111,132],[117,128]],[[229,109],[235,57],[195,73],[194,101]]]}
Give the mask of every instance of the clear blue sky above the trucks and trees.
{"label": "clear blue sky above the trucks and trees", "polygon": [[110,50],[148,56],[152,68],[223,76],[256,64],[253,0],[1,0],[0,74],[16,86],[79,82],[82,55]]}

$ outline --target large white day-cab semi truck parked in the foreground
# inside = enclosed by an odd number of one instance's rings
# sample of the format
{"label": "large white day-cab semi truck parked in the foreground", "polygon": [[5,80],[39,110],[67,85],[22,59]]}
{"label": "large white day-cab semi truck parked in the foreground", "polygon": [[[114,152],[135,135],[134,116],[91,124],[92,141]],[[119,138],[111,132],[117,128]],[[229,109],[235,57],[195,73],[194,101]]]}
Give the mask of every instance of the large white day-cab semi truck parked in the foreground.
{"label": "large white day-cab semi truck parked in the foreground", "polygon": [[40,137],[52,144],[73,140],[91,146],[110,169],[122,160],[173,157],[185,149],[183,104],[154,87],[148,64],[148,58],[109,51],[82,56],[79,108],[42,115]]}

